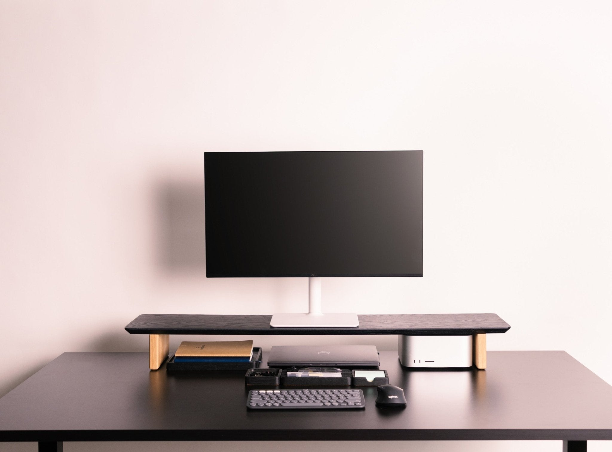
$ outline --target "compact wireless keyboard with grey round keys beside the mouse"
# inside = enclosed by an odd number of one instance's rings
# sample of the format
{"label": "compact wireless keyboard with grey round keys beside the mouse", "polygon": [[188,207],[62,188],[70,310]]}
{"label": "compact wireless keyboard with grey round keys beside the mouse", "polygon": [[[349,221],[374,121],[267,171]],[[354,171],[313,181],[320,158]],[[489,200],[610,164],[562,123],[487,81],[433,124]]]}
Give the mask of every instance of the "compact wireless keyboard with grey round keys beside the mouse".
{"label": "compact wireless keyboard with grey round keys beside the mouse", "polygon": [[277,409],[346,409],[365,408],[364,391],[360,389],[296,389],[252,390],[247,396],[247,408]]}

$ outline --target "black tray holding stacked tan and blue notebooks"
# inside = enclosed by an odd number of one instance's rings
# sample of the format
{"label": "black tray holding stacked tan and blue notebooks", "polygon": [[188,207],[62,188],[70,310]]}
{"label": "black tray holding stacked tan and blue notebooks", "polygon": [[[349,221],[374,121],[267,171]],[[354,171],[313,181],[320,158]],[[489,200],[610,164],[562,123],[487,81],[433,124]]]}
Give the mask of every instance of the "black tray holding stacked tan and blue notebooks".
{"label": "black tray holding stacked tan and blue notebooks", "polygon": [[183,341],[168,370],[249,369],[259,366],[261,348],[253,341]]}

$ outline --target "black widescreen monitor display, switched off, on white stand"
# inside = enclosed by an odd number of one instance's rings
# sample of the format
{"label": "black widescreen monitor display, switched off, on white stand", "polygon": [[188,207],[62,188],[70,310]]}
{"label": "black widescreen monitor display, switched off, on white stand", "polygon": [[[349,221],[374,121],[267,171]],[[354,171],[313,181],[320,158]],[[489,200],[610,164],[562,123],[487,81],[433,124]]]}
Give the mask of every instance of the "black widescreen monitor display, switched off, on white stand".
{"label": "black widescreen monitor display, switched off, on white stand", "polygon": [[206,276],[422,276],[423,152],[205,152]]}

